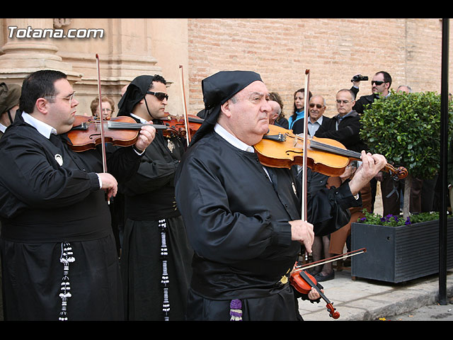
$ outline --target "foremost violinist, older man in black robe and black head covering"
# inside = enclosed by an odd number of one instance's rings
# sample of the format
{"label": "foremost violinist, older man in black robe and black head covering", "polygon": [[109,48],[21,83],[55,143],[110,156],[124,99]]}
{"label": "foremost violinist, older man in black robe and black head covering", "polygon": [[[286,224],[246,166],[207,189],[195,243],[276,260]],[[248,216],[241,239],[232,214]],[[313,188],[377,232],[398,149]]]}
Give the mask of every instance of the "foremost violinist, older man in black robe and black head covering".
{"label": "foremost violinist, older man in black robe and black head covering", "polygon": [[270,111],[260,76],[219,72],[202,89],[207,115],[176,174],[176,200],[195,251],[188,319],[302,319],[288,282],[300,244],[310,252],[314,234],[349,220],[347,209],[361,203],[357,188],[382,169],[384,157],[362,153],[360,181],[310,197],[311,225],[300,220],[292,171],[264,167],[253,152]]}

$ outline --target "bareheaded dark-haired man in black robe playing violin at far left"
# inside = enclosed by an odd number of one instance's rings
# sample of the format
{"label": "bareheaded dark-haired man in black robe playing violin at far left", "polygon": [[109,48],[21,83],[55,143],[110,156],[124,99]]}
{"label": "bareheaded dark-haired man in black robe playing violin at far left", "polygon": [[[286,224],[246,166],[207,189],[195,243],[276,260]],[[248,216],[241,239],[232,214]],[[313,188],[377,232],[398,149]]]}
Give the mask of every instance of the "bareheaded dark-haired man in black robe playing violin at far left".
{"label": "bareheaded dark-haired man in black robe playing violin at far left", "polygon": [[66,74],[42,70],[22,86],[0,143],[1,261],[7,320],[122,320],[120,267],[105,196],[137,171],[155,129],[108,154],[74,152],[78,101]]}

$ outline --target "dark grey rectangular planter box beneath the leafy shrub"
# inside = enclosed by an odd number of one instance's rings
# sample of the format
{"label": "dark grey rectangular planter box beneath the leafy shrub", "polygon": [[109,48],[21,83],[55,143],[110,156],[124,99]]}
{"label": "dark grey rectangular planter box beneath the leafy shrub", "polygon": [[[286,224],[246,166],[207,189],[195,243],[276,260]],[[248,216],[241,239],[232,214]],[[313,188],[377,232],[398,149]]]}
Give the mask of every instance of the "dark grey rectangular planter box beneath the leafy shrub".
{"label": "dark grey rectangular planter box beneath the leafy shrub", "polygon": [[[400,283],[439,272],[439,220],[400,227],[352,223],[351,276]],[[453,268],[453,218],[447,220],[447,269]]]}

